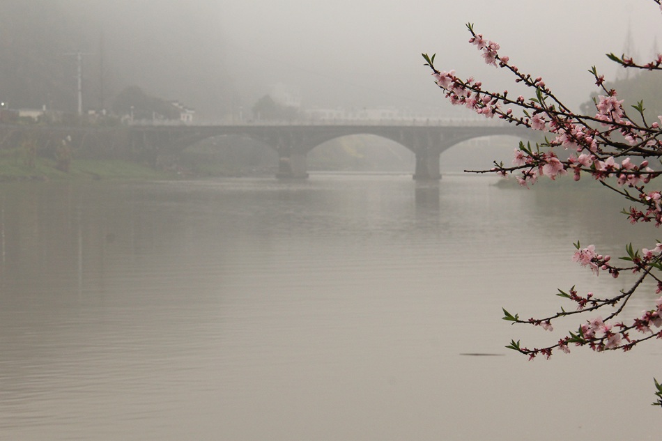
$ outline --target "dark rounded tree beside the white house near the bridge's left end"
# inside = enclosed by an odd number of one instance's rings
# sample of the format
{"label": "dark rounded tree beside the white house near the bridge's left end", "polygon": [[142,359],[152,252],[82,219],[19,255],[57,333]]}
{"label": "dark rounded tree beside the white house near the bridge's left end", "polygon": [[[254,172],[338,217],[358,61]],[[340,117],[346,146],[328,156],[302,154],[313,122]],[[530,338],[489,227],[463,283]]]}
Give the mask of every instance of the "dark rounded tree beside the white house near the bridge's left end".
{"label": "dark rounded tree beside the white house near the bridge's left end", "polygon": [[129,86],[118,93],[113,103],[113,111],[119,115],[133,114],[133,118],[179,119],[179,110],[161,98],[147,95],[138,86]]}

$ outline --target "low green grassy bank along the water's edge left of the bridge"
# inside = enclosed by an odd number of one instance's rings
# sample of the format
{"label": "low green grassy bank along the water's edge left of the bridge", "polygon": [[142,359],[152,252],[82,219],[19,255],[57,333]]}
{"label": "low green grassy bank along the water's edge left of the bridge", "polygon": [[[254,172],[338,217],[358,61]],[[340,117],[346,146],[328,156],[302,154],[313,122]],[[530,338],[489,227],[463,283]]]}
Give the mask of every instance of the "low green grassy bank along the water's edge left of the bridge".
{"label": "low green grassy bank along the water's edge left of the bridge", "polygon": [[157,171],[141,164],[121,160],[72,160],[68,173],[56,168],[56,162],[37,157],[34,164],[0,158],[0,182],[15,180],[152,180],[176,178],[175,173]]}

